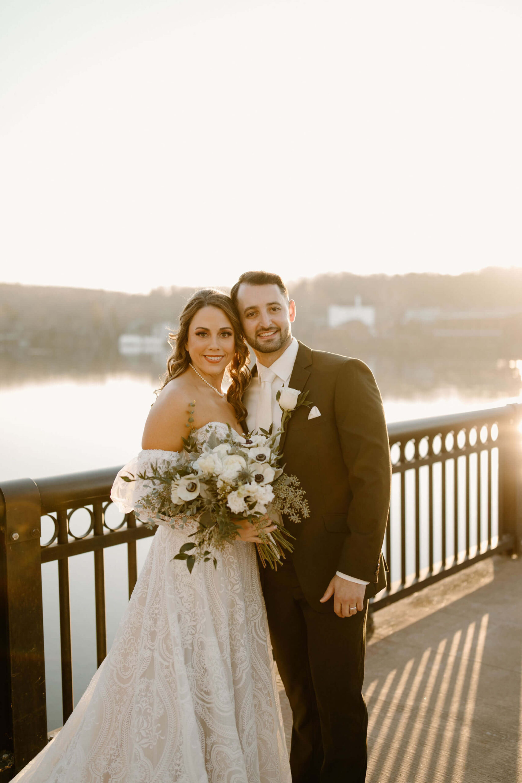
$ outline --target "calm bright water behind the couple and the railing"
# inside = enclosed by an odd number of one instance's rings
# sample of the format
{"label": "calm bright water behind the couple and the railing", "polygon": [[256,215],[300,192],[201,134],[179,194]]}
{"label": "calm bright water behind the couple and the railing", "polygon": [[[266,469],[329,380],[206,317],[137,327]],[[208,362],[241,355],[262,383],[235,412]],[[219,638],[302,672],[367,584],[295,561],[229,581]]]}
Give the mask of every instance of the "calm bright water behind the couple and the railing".
{"label": "calm bright water behind the couple and the railing", "polygon": [[[376,376],[379,380],[378,373]],[[404,393],[400,397],[387,395],[383,388],[388,421],[497,406],[507,402],[510,395],[513,397],[512,385],[505,389],[497,386],[477,391],[476,387],[470,389],[448,384],[437,387],[434,384],[419,393],[418,384],[414,385],[414,381],[401,385]],[[140,449],[143,424],[155,399],[154,388],[157,388],[157,380],[153,374],[130,371],[93,374],[76,381],[54,378],[39,382],[38,379],[27,378],[27,381],[8,387],[0,385],[0,479],[39,478],[124,464]],[[423,480],[421,478],[421,484]],[[448,476],[448,482],[451,481],[451,476]],[[393,550],[397,545],[394,533],[397,509],[394,509],[393,503],[391,514]],[[422,519],[427,517],[427,508],[421,508],[421,514]],[[435,511],[436,525],[437,518],[440,518],[440,510]],[[451,521],[450,516],[448,524]],[[77,524],[81,526],[81,518]],[[407,513],[407,525],[412,526],[411,511]],[[151,540],[144,539],[138,543],[139,568]],[[421,549],[425,561],[427,536],[423,536]],[[392,551],[392,560],[395,560],[393,555]],[[104,550],[108,646],[112,644],[128,603],[126,556],[124,545]],[[407,560],[408,570],[411,570],[411,553]],[[393,579],[397,577],[394,570]],[[48,726],[51,729],[62,723],[56,562],[42,566],[42,583]],[[70,559],[70,601],[74,702],[77,703],[96,668],[92,553]]]}

